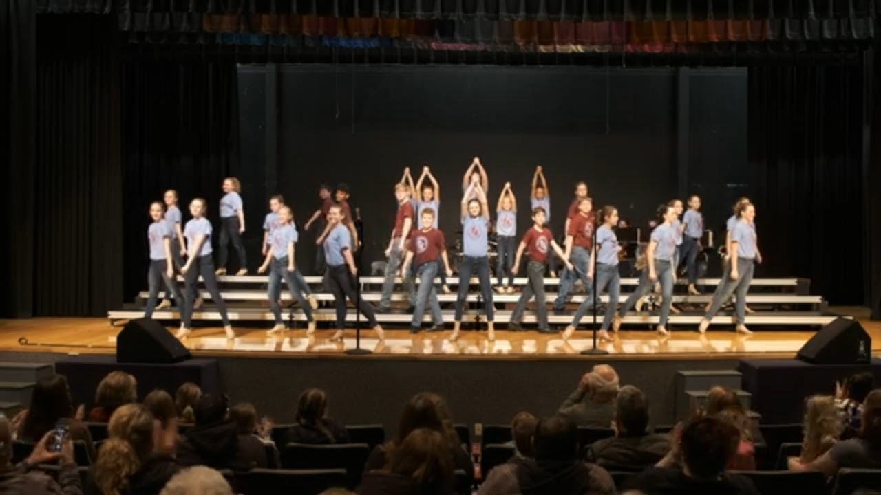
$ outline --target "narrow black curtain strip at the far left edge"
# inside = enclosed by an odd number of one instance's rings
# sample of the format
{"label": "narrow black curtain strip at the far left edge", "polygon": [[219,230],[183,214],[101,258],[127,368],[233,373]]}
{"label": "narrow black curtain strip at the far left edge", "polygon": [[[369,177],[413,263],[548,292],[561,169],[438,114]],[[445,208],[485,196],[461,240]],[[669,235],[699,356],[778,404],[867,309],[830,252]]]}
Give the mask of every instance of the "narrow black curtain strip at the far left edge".
{"label": "narrow black curtain strip at the far left edge", "polygon": [[0,241],[0,314],[33,314],[33,153],[36,12],[30,0],[0,6],[0,162],[6,229]]}

